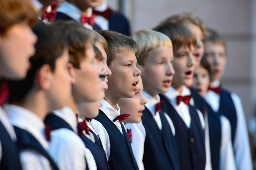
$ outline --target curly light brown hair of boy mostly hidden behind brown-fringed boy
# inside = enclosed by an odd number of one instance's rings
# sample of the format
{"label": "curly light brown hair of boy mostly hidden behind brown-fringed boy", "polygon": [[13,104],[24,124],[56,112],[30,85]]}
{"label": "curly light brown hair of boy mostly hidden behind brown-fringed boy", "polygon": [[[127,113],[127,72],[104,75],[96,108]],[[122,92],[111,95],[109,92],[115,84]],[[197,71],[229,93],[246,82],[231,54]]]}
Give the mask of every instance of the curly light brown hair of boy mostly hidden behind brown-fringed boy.
{"label": "curly light brown hair of boy mostly hidden behind brown-fringed boy", "polygon": [[165,19],[162,22],[162,24],[164,24],[164,23],[178,23],[185,27],[188,23],[192,23],[192,24],[195,24],[196,26],[198,26],[201,29],[203,35],[205,35],[205,27],[203,25],[202,20],[196,14],[193,14],[193,13],[185,12],[185,13],[181,13],[178,15],[173,15],[173,16]]}

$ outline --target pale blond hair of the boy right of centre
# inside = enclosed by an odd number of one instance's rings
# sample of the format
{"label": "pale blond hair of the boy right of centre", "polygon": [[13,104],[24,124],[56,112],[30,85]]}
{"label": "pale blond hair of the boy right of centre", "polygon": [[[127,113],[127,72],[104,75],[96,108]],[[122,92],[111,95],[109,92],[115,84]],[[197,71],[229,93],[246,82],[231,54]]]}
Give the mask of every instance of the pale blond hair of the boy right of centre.
{"label": "pale blond hair of the boy right of centre", "polygon": [[139,47],[135,55],[138,64],[142,66],[150,50],[158,48],[161,45],[172,47],[172,41],[168,36],[153,30],[141,30],[131,35],[131,37]]}

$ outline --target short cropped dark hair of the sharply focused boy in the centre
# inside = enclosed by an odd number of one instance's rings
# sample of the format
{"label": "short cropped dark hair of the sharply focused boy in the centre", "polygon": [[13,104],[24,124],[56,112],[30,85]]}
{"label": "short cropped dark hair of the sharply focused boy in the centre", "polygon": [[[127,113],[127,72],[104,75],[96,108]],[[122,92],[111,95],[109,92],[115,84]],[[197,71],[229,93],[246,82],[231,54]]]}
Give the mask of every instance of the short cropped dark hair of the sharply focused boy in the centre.
{"label": "short cropped dark hair of the sharply focused boy in the centre", "polygon": [[99,30],[97,31],[102,35],[108,43],[108,53],[107,53],[107,65],[110,66],[112,61],[116,58],[118,52],[122,50],[132,50],[137,51],[138,47],[135,41],[118,32],[109,30]]}

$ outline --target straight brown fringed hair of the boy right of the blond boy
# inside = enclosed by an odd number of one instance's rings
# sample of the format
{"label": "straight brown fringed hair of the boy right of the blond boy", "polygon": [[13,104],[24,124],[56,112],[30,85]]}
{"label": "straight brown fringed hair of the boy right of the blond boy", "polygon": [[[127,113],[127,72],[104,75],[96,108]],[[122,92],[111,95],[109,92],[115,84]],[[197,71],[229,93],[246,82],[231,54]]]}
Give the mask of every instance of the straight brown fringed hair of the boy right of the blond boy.
{"label": "straight brown fringed hair of the boy right of the blond boy", "polygon": [[196,37],[188,30],[188,28],[177,23],[165,23],[155,27],[153,30],[167,35],[173,45],[173,54],[180,50],[183,46],[196,47]]}

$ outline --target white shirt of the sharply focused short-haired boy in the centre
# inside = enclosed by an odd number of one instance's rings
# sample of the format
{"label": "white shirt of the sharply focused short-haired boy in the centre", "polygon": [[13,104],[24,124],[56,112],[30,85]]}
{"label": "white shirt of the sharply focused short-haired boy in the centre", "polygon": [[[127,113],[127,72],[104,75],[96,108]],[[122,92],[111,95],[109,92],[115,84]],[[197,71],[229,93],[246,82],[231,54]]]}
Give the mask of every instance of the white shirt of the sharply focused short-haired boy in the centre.
{"label": "white shirt of the sharply focused short-haired boy in the centre", "polygon": [[[119,106],[117,105],[117,110],[116,110],[104,99],[101,100],[101,103],[102,103],[102,106],[100,107],[100,110],[102,112],[104,112],[107,115],[108,119],[113,122],[113,120],[118,115],[120,115]],[[116,125],[116,127],[119,129],[119,131],[123,134],[122,127],[121,127],[121,124],[120,124],[120,123],[123,123],[123,122],[120,122],[119,120],[116,120],[113,123]],[[101,143],[103,145],[103,149],[106,153],[106,157],[107,157],[107,160],[108,160],[109,155],[110,155],[110,142],[109,142],[108,132],[103,127],[103,125],[95,119],[92,119],[92,125],[96,129],[96,131],[97,131],[97,133],[100,137]],[[124,123],[123,123],[123,125],[124,125]]]}

